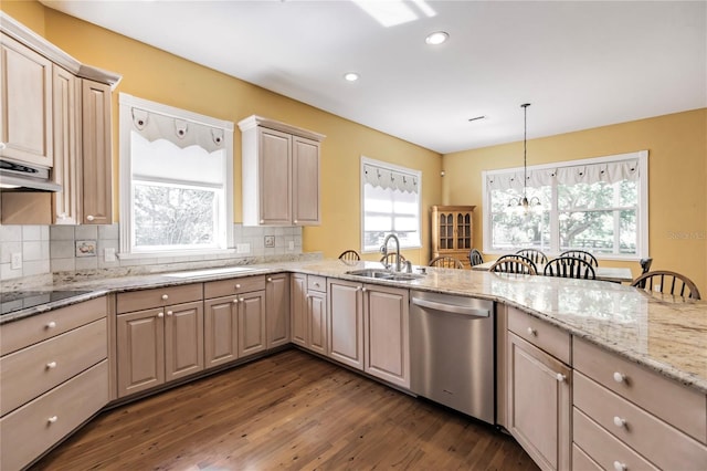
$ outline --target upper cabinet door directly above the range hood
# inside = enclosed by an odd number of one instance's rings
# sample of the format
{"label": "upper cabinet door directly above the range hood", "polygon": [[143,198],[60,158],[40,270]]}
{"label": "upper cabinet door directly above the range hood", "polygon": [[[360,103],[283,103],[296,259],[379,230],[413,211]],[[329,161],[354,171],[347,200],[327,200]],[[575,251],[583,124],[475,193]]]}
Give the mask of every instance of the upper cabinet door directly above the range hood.
{"label": "upper cabinet door directly above the range hood", "polygon": [[0,156],[52,167],[52,63],[4,34],[0,54]]}

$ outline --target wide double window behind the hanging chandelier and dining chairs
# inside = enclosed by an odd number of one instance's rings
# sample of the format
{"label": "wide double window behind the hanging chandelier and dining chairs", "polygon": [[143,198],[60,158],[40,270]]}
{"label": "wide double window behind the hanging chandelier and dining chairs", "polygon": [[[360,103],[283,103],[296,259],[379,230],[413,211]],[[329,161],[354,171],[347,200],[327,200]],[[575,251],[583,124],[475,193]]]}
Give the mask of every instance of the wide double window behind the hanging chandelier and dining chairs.
{"label": "wide double window behind the hanging chandelier and dining chairs", "polygon": [[647,257],[647,151],[527,169],[525,213],[508,201],[523,198],[524,169],[485,171],[484,251],[535,248],[559,254],[587,250],[610,259]]}

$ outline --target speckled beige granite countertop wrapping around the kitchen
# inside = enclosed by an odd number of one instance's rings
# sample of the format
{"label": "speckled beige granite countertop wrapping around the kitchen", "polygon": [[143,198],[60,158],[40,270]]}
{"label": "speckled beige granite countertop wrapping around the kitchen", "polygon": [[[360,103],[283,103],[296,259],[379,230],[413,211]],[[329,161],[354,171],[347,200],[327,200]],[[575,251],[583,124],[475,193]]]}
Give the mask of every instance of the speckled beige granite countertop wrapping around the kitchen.
{"label": "speckled beige granite countertop wrapping around the kitchen", "polygon": [[[347,274],[378,262],[319,260],[247,265],[234,272],[165,273],[65,279],[45,289],[91,290],[92,293],[51,305],[18,312],[9,322],[62,305],[86,301],[109,292],[172,286],[236,276],[296,272],[335,276],[388,286],[475,296],[518,307],[578,337],[601,345],[632,362],[707,394],[707,302],[674,302],[672,296],[651,296],[631,286],[602,281],[549,276],[497,274],[469,270],[425,268],[412,281],[371,280]],[[414,270],[419,270],[415,268]],[[194,272],[193,270],[191,272]]]}

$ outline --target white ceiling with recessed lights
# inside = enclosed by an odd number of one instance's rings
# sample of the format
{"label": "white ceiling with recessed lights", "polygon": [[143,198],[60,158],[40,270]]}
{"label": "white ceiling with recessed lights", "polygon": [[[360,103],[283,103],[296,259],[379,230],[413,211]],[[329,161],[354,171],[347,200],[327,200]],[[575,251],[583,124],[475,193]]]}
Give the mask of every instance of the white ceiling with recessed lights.
{"label": "white ceiling with recessed lights", "polygon": [[707,106],[706,1],[42,3],[442,154]]}

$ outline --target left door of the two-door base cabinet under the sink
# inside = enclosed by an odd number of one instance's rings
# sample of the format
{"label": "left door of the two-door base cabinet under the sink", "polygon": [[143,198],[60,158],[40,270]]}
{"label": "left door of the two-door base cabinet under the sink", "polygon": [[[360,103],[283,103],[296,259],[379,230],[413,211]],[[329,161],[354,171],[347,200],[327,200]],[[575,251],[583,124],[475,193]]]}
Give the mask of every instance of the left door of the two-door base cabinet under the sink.
{"label": "left door of the two-door base cabinet under the sink", "polygon": [[329,280],[327,355],[363,369],[363,292],[360,283]]}

